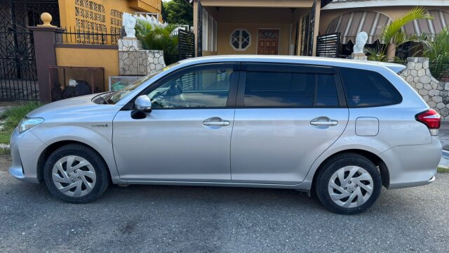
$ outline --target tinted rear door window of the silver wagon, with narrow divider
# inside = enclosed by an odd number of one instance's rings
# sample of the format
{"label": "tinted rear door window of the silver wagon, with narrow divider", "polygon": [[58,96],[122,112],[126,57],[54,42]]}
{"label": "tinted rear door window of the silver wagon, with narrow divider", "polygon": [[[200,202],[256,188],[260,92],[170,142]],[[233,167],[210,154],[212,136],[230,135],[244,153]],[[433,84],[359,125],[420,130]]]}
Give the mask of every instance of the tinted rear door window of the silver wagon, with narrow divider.
{"label": "tinted rear door window of the silver wagon, with narrow divider", "polygon": [[333,107],[339,103],[333,74],[247,71],[243,105]]}

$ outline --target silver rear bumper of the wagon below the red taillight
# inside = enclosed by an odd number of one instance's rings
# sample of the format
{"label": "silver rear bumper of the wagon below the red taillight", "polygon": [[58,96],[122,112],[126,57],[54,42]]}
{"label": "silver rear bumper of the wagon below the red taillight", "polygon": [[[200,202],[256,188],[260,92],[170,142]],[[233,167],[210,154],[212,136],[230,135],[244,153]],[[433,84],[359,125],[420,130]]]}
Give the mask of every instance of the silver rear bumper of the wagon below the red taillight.
{"label": "silver rear bumper of the wagon below the red taillight", "polygon": [[380,153],[389,170],[389,189],[425,186],[435,181],[442,147],[438,136],[425,145],[401,145]]}

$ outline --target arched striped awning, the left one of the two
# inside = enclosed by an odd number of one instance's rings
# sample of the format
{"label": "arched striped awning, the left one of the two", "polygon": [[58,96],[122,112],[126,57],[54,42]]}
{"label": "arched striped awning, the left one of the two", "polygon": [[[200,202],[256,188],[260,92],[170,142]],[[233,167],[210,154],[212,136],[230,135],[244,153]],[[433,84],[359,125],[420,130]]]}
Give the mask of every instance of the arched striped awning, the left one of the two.
{"label": "arched striped awning, the left one of the two", "polygon": [[328,26],[327,33],[340,32],[341,43],[347,44],[349,40],[355,43],[357,34],[360,32],[368,33],[368,44],[380,39],[382,30],[389,25],[391,19],[382,13],[375,11],[353,11],[344,13]]}

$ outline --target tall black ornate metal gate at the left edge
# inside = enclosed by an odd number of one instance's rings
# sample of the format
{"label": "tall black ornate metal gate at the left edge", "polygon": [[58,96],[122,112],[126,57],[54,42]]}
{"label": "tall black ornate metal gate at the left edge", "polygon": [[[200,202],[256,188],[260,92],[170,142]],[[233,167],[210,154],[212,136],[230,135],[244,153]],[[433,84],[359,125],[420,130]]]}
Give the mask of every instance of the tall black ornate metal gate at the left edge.
{"label": "tall black ornate metal gate at the left edge", "polygon": [[39,100],[34,38],[43,12],[59,24],[58,1],[0,1],[0,100]]}

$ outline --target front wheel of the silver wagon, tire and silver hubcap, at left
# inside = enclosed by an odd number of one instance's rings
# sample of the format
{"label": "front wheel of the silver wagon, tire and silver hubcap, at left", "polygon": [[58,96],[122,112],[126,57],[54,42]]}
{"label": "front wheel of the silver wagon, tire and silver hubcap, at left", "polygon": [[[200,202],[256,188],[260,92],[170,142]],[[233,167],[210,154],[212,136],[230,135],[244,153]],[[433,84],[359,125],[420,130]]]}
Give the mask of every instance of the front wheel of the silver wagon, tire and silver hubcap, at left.
{"label": "front wheel of the silver wagon, tire and silver hubcap, at left", "polygon": [[76,204],[98,199],[109,186],[105,161],[95,150],[81,144],[55,150],[43,167],[43,179],[55,197]]}

